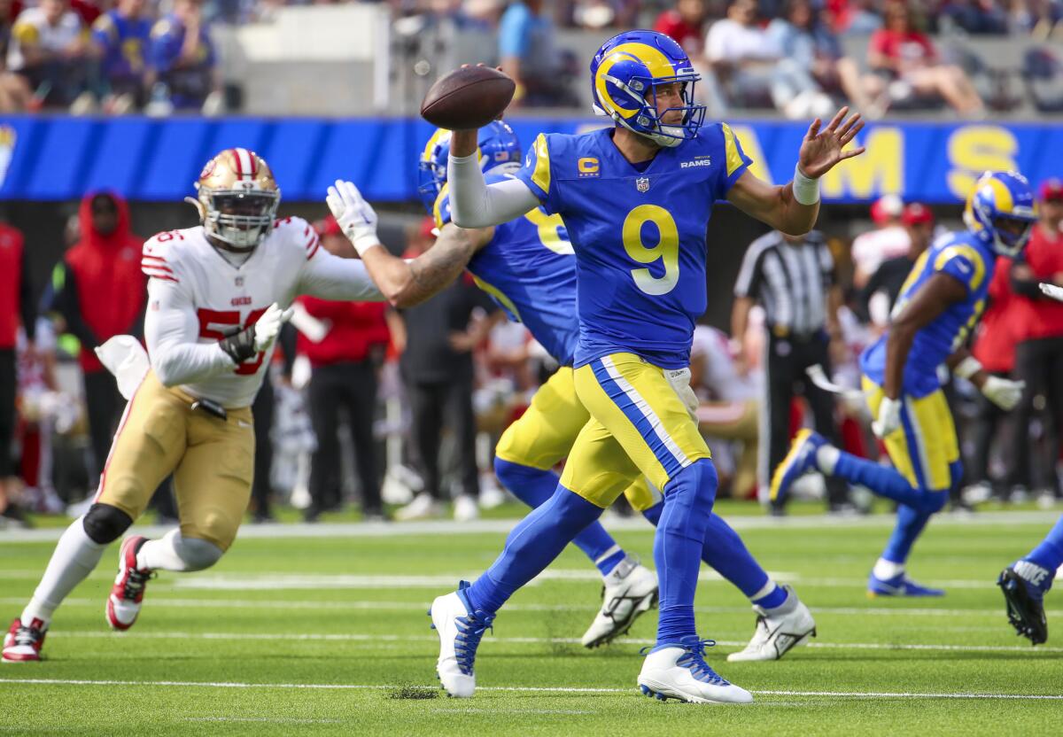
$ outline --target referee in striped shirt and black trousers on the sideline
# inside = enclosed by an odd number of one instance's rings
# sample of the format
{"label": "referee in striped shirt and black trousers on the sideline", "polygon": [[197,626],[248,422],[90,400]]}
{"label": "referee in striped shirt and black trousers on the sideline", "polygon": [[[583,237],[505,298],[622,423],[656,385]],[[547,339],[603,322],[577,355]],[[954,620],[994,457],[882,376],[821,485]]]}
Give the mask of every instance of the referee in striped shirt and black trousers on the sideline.
{"label": "referee in striped shirt and black trousers on the sideline", "polygon": [[[761,501],[766,501],[772,471],[790,447],[790,405],[804,393],[817,432],[839,443],[833,397],[806,381],[805,370],[820,364],[830,374],[830,344],[841,338],[838,308],[841,289],[833,283],[834,262],[823,234],[792,237],[778,231],[749,245],[735,285],[731,334],[745,335],[749,311],[764,307],[767,329],[764,393],[761,403],[759,475]],[[847,507],[848,490],[838,479],[827,480],[831,509]],[[781,507],[772,507],[782,514]]]}

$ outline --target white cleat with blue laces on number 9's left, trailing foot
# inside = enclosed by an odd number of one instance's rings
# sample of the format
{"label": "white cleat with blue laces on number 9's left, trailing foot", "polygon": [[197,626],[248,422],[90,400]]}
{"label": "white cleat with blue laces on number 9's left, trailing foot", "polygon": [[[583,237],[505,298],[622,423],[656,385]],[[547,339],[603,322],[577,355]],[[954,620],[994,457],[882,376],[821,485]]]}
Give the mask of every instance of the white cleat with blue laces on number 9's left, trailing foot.
{"label": "white cleat with blue laces on number 9's left, trailing foot", "polygon": [[446,693],[459,699],[468,699],[476,690],[476,648],[494,621],[493,615],[473,610],[467,588],[469,582],[460,582],[457,591],[437,597],[428,609],[432,629],[439,634],[436,674]]}

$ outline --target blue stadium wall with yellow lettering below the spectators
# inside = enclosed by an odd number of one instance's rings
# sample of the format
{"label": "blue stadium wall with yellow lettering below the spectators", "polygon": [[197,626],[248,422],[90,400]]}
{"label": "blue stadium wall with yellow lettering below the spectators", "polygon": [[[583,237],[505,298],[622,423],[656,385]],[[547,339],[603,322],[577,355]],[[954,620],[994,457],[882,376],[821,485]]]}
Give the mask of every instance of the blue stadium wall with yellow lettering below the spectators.
{"label": "blue stadium wall with yellow lettering below the spectators", "polygon": [[[536,134],[602,124],[513,118],[525,145]],[[788,181],[805,125],[733,121],[754,171]],[[321,200],[336,179],[375,201],[416,199],[415,163],[432,129],[419,119],[0,116],[0,200],[60,201],[98,188],[129,199],[180,201],[214,152],[244,146],[273,166],[285,200]],[[860,136],[863,156],[823,182],[826,202],[860,203],[883,192],[935,204],[962,200],[985,169],[1019,169],[1034,183],[1063,173],[1063,127],[1039,123],[880,122]]]}

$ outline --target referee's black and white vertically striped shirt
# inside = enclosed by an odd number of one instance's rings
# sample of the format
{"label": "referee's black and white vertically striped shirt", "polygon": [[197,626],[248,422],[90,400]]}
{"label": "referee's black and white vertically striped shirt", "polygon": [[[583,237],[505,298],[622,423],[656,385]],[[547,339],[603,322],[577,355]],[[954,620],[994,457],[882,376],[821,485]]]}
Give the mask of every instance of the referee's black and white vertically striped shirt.
{"label": "referee's black and white vertically striped shirt", "polygon": [[781,233],[772,231],[749,244],[735,296],[761,302],[776,335],[809,336],[826,325],[833,270],[834,259],[819,231],[797,244],[788,244]]}

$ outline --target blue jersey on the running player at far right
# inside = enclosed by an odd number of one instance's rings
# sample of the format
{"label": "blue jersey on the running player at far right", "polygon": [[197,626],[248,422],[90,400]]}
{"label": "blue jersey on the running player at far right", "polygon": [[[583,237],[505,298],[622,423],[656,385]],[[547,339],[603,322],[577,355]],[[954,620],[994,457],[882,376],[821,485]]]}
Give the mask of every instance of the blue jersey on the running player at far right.
{"label": "blue jersey on the running player at far right", "polygon": [[[900,288],[893,314],[897,315],[923,286],[938,272],[958,279],[967,289],[966,299],[950,305],[930,324],[915,334],[908,363],[905,364],[906,395],[926,397],[941,387],[938,367],[962,347],[985,308],[985,296],[996,256],[975,235],[962,231],[941,236],[915,262]],[[878,385],[885,381],[885,341],[882,335],[860,356],[864,374]]]}

